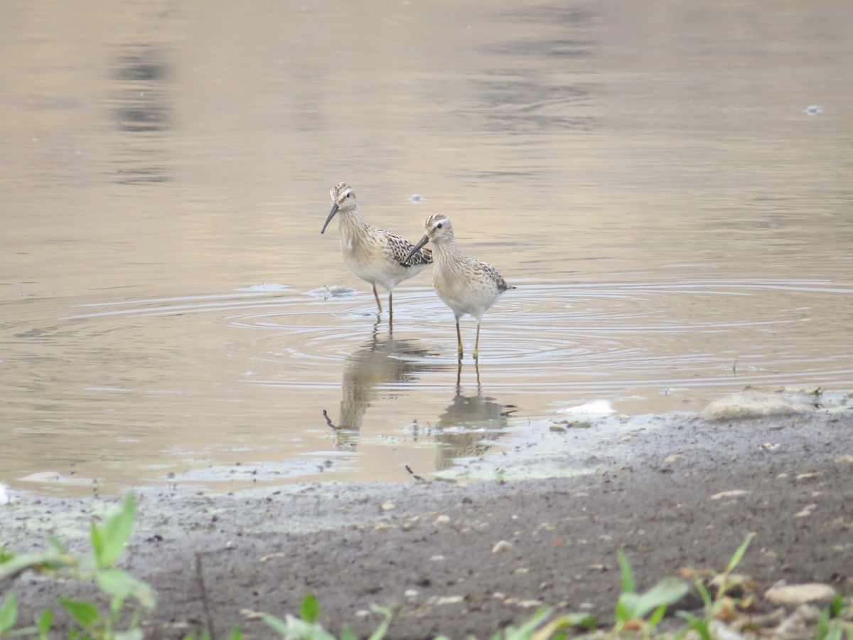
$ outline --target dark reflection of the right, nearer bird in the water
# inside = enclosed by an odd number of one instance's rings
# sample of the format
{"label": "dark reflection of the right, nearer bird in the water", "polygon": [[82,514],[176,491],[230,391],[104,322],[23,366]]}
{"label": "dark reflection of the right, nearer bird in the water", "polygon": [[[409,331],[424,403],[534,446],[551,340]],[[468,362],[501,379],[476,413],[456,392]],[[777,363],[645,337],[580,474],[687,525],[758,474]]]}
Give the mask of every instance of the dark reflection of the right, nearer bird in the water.
{"label": "dark reflection of the right, nearer bird in the water", "polygon": [[477,369],[477,393],[462,393],[461,360],[456,369],[456,395],[441,416],[438,416],[435,439],[438,443],[435,466],[452,467],[457,458],[478,457],[489,451],[501,437],[502,429],[518,407],[500,404],[483,393]]}

